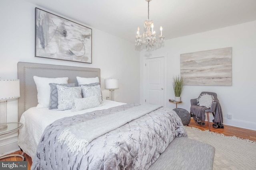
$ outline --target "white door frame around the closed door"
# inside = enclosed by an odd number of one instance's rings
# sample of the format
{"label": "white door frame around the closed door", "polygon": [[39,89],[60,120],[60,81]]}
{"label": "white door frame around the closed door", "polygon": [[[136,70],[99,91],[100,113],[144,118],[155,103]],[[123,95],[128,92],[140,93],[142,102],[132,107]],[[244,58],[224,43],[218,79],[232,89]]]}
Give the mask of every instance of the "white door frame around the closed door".
{"label": "white door frame around the closed door", "polygon": [[140,71],[142,72],[141,78],[140,78],[140,103],[145,104],[145,99],[146,99],[146,59],[155,59],[155,58],[160,58],[164,57],[164,107],[167,106],[167,54],[166,55],[152,55],[150,57],[141,57],[141,69]]}

